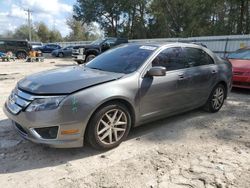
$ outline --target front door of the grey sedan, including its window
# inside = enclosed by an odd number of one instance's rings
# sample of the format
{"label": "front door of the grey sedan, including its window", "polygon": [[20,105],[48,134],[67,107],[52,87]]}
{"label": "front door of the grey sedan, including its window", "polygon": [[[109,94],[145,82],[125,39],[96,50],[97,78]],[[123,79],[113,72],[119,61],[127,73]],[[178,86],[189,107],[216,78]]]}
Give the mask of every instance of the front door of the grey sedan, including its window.
{"label": "front door of the grey sedan, including its window", "polygon": [[181,47],[167,48],[152,61],[151,66],[166,67],[166,75],[144,76],[140,81],[141,119],[175,113],[188,105],[189,78]]}

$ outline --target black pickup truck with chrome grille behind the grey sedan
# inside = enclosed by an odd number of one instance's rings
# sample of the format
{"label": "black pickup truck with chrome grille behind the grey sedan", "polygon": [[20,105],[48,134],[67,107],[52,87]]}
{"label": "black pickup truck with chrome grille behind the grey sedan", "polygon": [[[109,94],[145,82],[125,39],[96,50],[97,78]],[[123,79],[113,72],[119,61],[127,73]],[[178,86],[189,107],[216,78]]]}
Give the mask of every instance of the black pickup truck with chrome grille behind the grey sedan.
{"label": "black pickup truck with chrome grille behind the grey sedan", "polygon": [[75,46],[73,48],[72,57],[78,64],[82,64],[94,59],[104,51],[122,43],[128,43],[128,39],[115,37],[98,39],[88,45]]}

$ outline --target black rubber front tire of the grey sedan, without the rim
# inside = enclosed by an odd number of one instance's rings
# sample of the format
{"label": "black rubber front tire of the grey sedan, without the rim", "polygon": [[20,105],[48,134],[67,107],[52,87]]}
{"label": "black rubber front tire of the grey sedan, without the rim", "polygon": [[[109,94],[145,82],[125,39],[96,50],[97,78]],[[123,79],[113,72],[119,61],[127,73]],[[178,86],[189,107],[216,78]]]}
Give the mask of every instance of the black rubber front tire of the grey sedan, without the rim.
{"label": "black rubber front tire of the grey sedan, without the rim", "polygon": [[[102,118],[102,116],[109,110],[112,109],[119,109],[122,110],[128,120],[128,125],[127,125],[127,129],[123,135],[123,137],[116,143],[114,144],[110,144],[110,145],[106,145],[104,143],[102,143],[99,139],[98,139],[98,135],[97,135],[97,126],[98,126],[98,122],[100,120],[100,118]],[[108,149],[112,149],[117,147],[118,145],[120,145],[120,143],[122,141],[124,141],[124,139],[126,139],[126,137],[128,136],[129,130],[131,128],[131,115],[127,109],[127,107],[123,104],[120,103],[110,103],[107,104],[103,107],[101,107],[99,110],[97,110],[95,112],[95,114],[93,115],[93,117],[90,120],[90,123],[88,124],[88,128],[86,131],[86,137],[87,137],[87,141],[89,142],[89,144],[96,148],[96,149],[101,149],[101,150],[108,150]]]}

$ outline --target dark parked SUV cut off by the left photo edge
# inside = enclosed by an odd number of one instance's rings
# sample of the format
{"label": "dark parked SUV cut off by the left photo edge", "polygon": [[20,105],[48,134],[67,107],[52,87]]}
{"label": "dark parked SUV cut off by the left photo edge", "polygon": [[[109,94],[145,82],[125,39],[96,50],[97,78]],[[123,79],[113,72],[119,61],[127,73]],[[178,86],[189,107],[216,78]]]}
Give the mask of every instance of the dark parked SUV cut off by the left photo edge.
{"label": "dark parked SUV cut off by the left photo edge", "polygon": [[25,59],[31,50],[27,40],[0,39],[0,52],[11,51],[18,59]]}

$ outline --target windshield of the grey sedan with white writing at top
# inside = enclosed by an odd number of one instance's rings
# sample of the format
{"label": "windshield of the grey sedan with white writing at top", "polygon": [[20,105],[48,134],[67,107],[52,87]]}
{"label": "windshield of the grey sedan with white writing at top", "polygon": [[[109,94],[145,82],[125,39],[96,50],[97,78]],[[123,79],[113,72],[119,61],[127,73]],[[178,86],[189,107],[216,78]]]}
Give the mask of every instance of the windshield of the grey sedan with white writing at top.
{"label": "windshield of the grey sedan with white writing at top", "polygon": [[129,74],[136,71],[156,50],[156,46],[126,44],[111,49],[90,61],[86,67]]}

